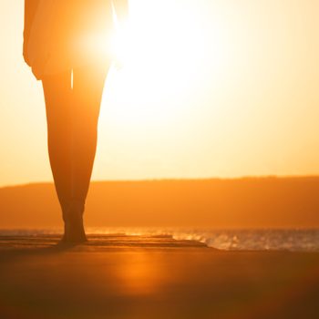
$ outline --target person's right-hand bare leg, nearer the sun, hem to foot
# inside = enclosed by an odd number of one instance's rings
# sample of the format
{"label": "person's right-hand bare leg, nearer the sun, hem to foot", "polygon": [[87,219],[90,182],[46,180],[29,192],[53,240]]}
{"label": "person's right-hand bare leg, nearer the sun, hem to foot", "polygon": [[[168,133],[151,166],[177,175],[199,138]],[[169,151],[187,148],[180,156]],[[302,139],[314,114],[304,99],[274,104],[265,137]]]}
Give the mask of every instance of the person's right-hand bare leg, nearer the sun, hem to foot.
{"label": "person's right-hand bare leg, nearer the sun, hem to foot", "polygon": [[[108,66],[87,65],[73,69],[72,90],[72,194],[69,237],[85,237],[82,214],[98,142],[98,115]],[[79,217],[80,214],[80,217]],[[72,220],[73,219],[73,220]],[[82,226],[81,226],[82,224]]]}

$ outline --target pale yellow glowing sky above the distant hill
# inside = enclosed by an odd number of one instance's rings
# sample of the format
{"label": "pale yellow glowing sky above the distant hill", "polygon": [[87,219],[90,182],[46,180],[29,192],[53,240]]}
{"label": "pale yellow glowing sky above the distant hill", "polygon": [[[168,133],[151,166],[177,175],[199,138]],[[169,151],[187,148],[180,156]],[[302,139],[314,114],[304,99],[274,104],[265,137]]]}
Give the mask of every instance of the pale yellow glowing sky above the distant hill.
{"label": "pale yellow glowing sky above the distant hill", "polygon": [[[319,173],[317,0],[130,0],[94,180]],[[0,0],[0,185],[52,180],[23,0]]]}

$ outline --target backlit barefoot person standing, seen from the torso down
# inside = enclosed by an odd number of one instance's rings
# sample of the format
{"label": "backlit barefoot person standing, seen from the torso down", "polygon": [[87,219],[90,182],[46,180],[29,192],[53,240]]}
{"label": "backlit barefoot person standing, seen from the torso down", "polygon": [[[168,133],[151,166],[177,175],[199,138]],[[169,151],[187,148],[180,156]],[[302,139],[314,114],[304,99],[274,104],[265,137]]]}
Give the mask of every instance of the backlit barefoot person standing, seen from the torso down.
{"label": "backlit barefoot person standing, seen from the torso down", "polygon": [[111,58],[103,41],[129,14],[128,0],[25,0],[23,55],[42,81],[47,145],[62,242],[86,242],[83,213]]}

